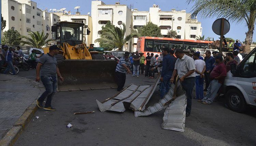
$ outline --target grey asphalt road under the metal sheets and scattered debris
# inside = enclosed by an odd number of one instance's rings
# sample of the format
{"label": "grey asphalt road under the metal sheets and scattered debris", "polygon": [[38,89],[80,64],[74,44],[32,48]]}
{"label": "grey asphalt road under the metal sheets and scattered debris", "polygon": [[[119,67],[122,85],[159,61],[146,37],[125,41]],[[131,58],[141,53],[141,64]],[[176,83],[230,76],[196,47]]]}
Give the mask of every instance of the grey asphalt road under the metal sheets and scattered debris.
{"label": "grey asphalt road under the metal sheets and scattered debris", "polygon": [[[32,78],[35,70],[22,71],[19,76]],[[126,85],[153,84],[140,76],[127,77]],[[134,146],[134,145],[256,145],[256,110],[236,113],[221,101],[212,105],[192,102],[191,115],[186,118],[185,132],[161,129],[163,111],[145,117],[124,113],[100,112],[95,99],[103,101],[115,95],[115,89],[58,92],[53,98],[56,111],[39,109],[15,146]],[[148,105],[159,100],[156,90]],[[74,115],[74,112],[95,111]],[[71,123],[73,127],[66,128]]]}

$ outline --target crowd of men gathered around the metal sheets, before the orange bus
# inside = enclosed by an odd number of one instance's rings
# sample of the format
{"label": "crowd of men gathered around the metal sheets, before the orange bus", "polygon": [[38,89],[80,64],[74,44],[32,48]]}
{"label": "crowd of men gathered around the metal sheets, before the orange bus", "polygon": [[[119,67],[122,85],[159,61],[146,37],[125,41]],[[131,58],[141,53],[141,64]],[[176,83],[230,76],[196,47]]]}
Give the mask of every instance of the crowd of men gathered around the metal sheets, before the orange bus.
{"label": "crowd of men gathered around the metal sheets, before the orange bus", "polygon": [[[129,57],[129,53],[126,52],[116,67],[117,90],[123,90],[126,72],[132,73],[132,77],[139,77],[139,74],[144,74],[146,61],[145,77],[153,79],[156,72],[161,75],[160,98],[168,93],[170,83],[174,83],[176,76],[178,76],[182,88],[186,91],[186,116],[189,116],[192,98],[205,105],[212,104],[214,98],[219,95],[227,72],[230,71],[230,65],[232,63],[238,65],[244,57],[245,54],[242,50],[237,49],[225,56],[219,52],[211,53],[207,50],[203,57],[200,56],[200,52],[182,49],[176,49],[174,52],[169,48],[163,48],[160,56],[147,53],[144,57],[142,52],[137,51],[135,55]],[[203,88],[204,80],[205,89]],[[196,96],[192,97],[194,87],[196,88]],[[207,91],[206,95],[204,95],[204,91]]]}

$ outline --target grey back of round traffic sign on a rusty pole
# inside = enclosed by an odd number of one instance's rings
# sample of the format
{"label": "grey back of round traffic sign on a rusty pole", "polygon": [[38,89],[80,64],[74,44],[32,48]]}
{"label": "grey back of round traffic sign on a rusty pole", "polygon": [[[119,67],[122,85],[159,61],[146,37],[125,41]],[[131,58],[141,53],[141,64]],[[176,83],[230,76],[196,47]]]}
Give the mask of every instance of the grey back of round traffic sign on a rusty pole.
{"label": "grey back of round traffic sign on a rusty pole", "polygon": [[[212,30],[215,34],[221,35],[221,20],[222,18],[219,18],[215,20],[212,24]],[[230,29],[230,24],[227,19],[224,19],[224,29],[223,29],[223,35],[227,34]]]}

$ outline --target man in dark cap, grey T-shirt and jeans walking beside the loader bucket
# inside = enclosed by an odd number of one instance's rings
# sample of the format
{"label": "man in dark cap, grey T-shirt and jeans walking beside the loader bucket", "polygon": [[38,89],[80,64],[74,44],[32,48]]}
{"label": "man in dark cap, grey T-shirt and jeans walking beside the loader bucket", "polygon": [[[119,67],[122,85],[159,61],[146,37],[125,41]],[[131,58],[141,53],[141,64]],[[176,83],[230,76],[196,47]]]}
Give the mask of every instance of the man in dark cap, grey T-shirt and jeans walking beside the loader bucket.
{"label": "man in dark cap, grey T-shirt and jeans walking beside the loader bucket", "polygon": [[[57,45],[50,46],[49,53],[44,54],[40,57],[36,69],[37,77],[35,78],[35,81],[39,82],[41,77],[41,81],[43,82],[43,85],[45,87],[45,92],[37,99],[37,106],[39,108],[43,108],[44,99],[47,97],[44,106],[45,110],[56,110],[51,106],[52,97],[57,90],[56,73],[60,80],[63,81],[63,77],[61,76],[57,66],[57,60],[54,57],[54,55],[59,54],[59,50],[61,49],[58,48]],[[41,76],[39,75],[40,69]]]}

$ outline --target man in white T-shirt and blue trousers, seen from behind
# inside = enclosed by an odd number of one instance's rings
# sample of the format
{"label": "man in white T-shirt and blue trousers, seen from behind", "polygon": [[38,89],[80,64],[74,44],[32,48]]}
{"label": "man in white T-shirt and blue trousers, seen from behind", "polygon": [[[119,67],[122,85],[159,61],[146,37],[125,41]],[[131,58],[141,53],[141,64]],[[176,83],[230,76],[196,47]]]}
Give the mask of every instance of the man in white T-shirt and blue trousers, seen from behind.
{"label": "man in white T-shirt and blue trousers, seen from behind", "polygon": [[193,54],[196,65],[196,99],[203,99],[203,77],[206,70],[205,62],[199,58],[198,53]]}

